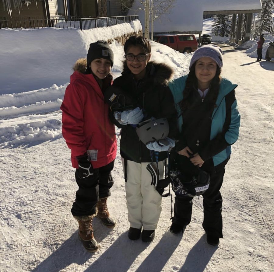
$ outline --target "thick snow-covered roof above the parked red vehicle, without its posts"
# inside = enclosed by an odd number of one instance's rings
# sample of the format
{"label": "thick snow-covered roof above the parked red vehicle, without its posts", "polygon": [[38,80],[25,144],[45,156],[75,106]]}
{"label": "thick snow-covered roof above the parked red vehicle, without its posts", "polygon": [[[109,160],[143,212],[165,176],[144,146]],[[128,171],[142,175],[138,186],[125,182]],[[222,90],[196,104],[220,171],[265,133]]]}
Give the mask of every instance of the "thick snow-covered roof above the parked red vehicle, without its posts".
{"label": "thick snow-covered roof above the parked red vehicle, without its posts", "polygon": [[[144,31],[145,14],[143,10],[138,10],[139,8],[143,8],[143,5],[135,0],[129,15],[139,15]],[[261,0],[177,0],[174,3],[174,8],[154,21],[154,32],[193,31],[201,33],[204,11],[207,13],[215,13],[216,11],[220,11],[220,13],[224,13],[224,11],[247,13],[259,12],[261,9]]]}

